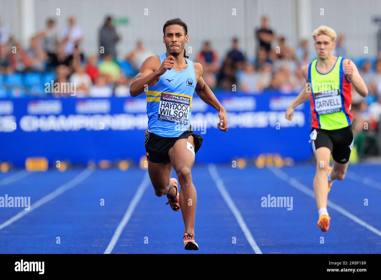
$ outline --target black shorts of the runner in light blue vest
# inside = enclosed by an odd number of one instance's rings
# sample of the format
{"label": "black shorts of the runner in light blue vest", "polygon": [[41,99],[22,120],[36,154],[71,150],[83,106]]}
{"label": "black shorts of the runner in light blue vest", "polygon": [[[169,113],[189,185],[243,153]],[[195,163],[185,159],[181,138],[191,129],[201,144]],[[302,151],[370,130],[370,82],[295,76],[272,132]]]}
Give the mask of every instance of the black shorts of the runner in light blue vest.
{"label": "black shorts of the runner in light blue vest", "polygon": [[[173,147],[174,143],[183,138],[193,136],[194,139],[194,152],[200,149],[203,138],[199,134],[193,132],[193,128],[190,125],[188,130],[184,131],[179,137],[162,137],[158,136],[150,131],[146,130],[146,136],[144,139],[144,146],[146,146],[146,155],[150,162],[154,163],[167,163],[170,162],[168,151]],[[191,145],[192,146],[192,145]]]}

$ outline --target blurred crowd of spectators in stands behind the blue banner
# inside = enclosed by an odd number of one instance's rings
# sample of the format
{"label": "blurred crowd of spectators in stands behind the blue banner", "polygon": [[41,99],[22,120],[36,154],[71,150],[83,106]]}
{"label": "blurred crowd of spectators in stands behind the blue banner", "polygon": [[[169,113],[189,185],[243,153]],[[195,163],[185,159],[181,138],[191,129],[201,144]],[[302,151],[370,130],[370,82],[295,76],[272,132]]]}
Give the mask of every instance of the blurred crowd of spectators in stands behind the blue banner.
{"label": "blurred crowd of spectators in stands behind the blue banner", "polygon": [[[30,45],[15,42],[12,32],[0,19],[0,98],[23,96],[70,96],[65,86],[75,83],[76,97],[130,96],[129,87],[142,62],[155,53],[143,42],[124,59],[117,59],[116,45],[120,40],[113,19],[108,16],[99,30],[100,54],[85,56],[81,50],[83,31],[74,17],[64,30],[57,30],[54,19],[30,39]],[[257,48],[254,58],[240,49],[238,38],[232,38],[231,50],[223,57],[213,50],[211,42],[191,58],[203,65],[203,78],[213,91],[237,91],[263,94],[277,91],[299,93],[306,81],[301,67],[315,59],[309,40],[292,49],[285,37],[275,34],[263,16],[255,30]],[[345,35],[336,40],[335,56],[347,56]],[[192,55],[192,54],[191,54]],[[249,54],[251,55],[251,54]],[[359,155],[381,154],[377,136],[381,119],[381,52],[376,58],[351,58],[367,84],[369,94],[363,99],[352,88],[352,109],[355,141]],[[46,83],[53,81],[53,92]],[[48,91],[46,90],[48,88]],[[364,129],[364,125],[368,128]]]}

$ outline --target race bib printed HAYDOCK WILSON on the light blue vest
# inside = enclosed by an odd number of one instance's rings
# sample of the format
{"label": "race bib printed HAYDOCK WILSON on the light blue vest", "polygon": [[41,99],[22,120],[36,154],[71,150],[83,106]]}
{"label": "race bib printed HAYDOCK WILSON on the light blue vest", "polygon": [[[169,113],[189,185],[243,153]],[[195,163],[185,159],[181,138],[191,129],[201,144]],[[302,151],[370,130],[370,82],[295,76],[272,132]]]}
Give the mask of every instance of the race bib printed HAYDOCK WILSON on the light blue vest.
{"label": "race bib printed HAYDOCK WILSON on the light blue vest", "polygon": [[160,97],[158,119],[188,124],[191,98],[173,93],[162,93]]}

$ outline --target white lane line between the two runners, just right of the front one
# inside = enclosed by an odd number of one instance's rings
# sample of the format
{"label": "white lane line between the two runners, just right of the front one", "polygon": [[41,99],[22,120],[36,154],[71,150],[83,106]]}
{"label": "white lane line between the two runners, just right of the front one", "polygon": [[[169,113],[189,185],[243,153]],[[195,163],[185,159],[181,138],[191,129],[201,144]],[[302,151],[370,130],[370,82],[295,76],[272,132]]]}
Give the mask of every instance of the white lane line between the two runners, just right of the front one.
{"label": "white lane line between the two runners, just right of the front one", "polygon": [[216,166],[214,164],[210,164],[210,165],[208,165],[208,170],[209,170],[211,177],[215,181],[217,189],[221,193],[221,195],[224,198],[227,206],[229,206],[229,208],[232,211],[235,219],[237,220],[239,226],[241,227],[243,234],[245,234],[245,237],[246,237],[247,241],[249,242],[249,244],[251,245],[251,248],[253,248],[253,250],[256,254],[262,254],[261,249],[259,249],[257,243],[255,242],[255,240],[253,238],[253,235],[251,235],[249,228],[247,227],[245,221],[243,220],[240,211],[238,210],[237,206],[235,206],[232,198],[229,195],[229,192],[227,192],[227,190],[224,186],[224,182],[219,177]]}

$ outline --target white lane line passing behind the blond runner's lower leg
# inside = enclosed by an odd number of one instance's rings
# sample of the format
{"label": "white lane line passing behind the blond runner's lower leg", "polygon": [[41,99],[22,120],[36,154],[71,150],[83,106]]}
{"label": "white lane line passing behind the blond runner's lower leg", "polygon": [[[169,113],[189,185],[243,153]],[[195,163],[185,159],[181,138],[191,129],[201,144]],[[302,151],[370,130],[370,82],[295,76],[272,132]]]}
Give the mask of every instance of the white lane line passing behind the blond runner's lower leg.
{"label": "white lane line passing behind the blond runner's lower leg", "polygon": [[[307,188],[294,178],[290,178],[286,173],[283,171],[277,169],[277,168],[269,168],[272,173],[274,173],[276,176],[278,176],[280,179],[283,181],[287,182],[291,186],[295,187],[296,189],[300,190],[301,192],[304,192],[306,195],[309,195],[310,197],[315,199],[315,193],[313,190]],[[357,224],[360,224],[361,226],[365,227],[366,229],[370,230],[371,232],[377,234],[378,236],[381,237],[381,231],[376,229],[375,227],[372,227],[370,224],[367,222],[364,222],[362,219],[358,218],[354,214],[349,213],[347,210],[345,210],[343,207],[337,205],[336,203],[331,202],[330,200],[327,201],[327,205],[330,206],[331,208],[335,209],[339,213],[343,214],[347,218],[351,219],[354,222],[357,222]]]}

